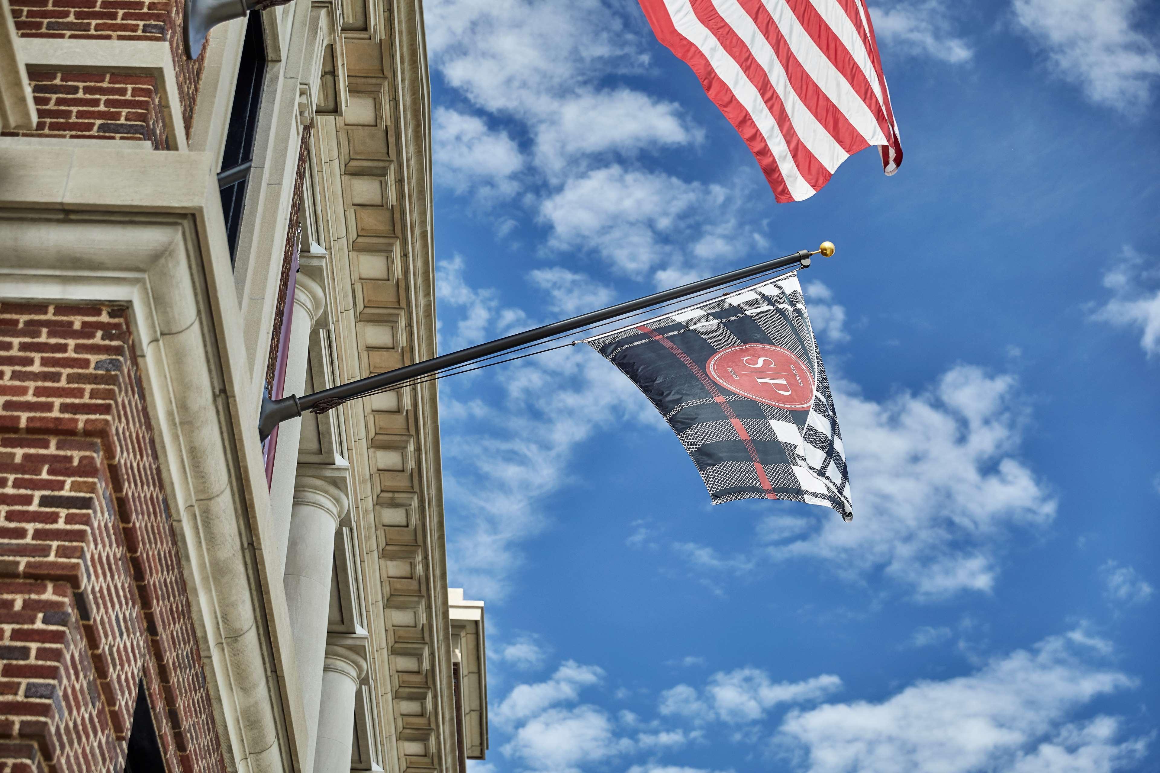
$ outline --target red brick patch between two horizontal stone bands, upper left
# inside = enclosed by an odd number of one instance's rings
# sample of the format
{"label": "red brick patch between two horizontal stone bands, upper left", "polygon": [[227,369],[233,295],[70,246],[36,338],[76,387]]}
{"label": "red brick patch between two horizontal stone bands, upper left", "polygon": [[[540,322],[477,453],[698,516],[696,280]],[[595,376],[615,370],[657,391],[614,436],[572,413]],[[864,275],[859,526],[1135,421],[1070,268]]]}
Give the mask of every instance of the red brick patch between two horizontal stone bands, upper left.
{"label": "red brick patch between two horizontal stone bands, upper left", "polygon": [[152,75],[31,71],[36,129],[12,137],[144,139],[169,150]]}

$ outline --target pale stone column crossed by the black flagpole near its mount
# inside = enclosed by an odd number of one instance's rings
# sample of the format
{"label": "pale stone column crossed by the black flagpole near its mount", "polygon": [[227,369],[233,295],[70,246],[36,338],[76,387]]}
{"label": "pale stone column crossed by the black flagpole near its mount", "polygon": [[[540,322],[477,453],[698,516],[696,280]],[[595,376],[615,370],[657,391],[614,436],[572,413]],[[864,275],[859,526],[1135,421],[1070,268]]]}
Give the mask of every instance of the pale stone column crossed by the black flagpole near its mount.
{"label": "pale stone column crossed by the black flagpole near its mount", "polygon": [[[300,395],[306,386],[306,358],[310,356],[310,336],[314,322],[326,306],[322,286],[299,271],[293,291],[290,336],[287,340],[287,379],[284,395]],[[274,451],[274,475],[270,482],[270,519],[274,524],[275,557],[284,561],[290,535],[290,510],[295,497],[298,467],[298,443],[302,438],[302,417],[282,422],[278,445]],[[284,566],[284,564],[283,564]]]}

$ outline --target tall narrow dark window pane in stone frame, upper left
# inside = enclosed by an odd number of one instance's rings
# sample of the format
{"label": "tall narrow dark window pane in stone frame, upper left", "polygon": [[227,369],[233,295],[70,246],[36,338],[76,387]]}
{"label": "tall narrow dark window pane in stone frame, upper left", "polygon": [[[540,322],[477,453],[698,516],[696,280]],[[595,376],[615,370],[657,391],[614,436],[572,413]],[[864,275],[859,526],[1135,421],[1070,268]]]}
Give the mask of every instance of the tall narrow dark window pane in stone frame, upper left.
{"label": "tall narrow dark window pane in stone frame, upper left", "polygon": [[218,173],[231,264],[238,251],[246,183],[249,180],[249,167],[254,162],[254,133],[258,130],[258,110],[262,103],[264,78],[266,43],[262,39],[262,14],[254,12],[249,14],[246,23],[246,41],[241,46],[238,82],[233,89],[233,107],[230,110],[230,129],[225,136],[222,172]]}

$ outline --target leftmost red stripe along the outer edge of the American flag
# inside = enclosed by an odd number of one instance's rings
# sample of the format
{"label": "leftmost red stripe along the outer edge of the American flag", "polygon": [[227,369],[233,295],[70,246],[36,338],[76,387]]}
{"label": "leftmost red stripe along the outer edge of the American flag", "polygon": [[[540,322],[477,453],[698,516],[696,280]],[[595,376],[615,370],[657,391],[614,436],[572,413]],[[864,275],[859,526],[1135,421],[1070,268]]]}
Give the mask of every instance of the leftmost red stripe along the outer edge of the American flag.
{"label": "leftmost red stripe along the outer edge of the American flag", "polygon": [[668,8],[665,6],[665,0],[640,0],[640,8],[645,12],[645,17],[648,19],[648,24],[653,28],[657,39],[676,58],[693,68],[702,88],[705,89],[705,94],[741,134],[741,139],[745,140],[749,152],[757,160],[757,166],[766,174],[766,180],[774,191],[774,198],[782,204],[795,200],[769,144],[761,130],[757,129],[749,111],[738,102],[728,86],[717,76],[717,72],[709,64],[709,59],[701,53],[701,50],[676,31],[676,27],[673,25],[673,20],[668,15]]}

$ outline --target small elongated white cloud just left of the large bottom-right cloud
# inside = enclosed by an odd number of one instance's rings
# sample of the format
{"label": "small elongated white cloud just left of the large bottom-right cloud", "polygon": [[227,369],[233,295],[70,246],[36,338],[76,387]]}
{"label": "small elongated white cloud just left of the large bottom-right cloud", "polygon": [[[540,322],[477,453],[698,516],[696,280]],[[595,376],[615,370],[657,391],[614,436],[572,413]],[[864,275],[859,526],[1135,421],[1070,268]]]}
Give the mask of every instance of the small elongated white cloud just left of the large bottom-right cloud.
{"label": "small elongated white cloud just left of the large bottom-right cloud", "polygon": [[774,683],[768,672],[751,666],[715,673],[699,693],[689,685],[666,690],[660,694],[658,710],[695,721],[744,724],[763,719],[776,706],[821,700],[841,688],[842,680],[829,673],[804,681]]}

